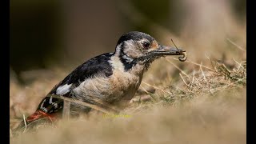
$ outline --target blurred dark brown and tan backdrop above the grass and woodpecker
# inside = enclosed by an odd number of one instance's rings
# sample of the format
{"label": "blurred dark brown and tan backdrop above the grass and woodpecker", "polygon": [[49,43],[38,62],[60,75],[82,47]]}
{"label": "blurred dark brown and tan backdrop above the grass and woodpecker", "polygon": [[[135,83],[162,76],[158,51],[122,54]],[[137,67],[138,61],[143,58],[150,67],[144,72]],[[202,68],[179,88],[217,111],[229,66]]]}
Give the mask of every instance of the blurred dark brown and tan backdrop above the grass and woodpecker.
{"label": "blurred dark brown and tan backdrop above the grass and woodpecker", "polygon": [[246,49],[246,0],[11,0],[10,78],[29,82],[31,70],[73,70],[113,52],[132,30],[163,45],[173,46],[172,38],[195,61],[206,52],[223,58],[235,50],[230,42]]}

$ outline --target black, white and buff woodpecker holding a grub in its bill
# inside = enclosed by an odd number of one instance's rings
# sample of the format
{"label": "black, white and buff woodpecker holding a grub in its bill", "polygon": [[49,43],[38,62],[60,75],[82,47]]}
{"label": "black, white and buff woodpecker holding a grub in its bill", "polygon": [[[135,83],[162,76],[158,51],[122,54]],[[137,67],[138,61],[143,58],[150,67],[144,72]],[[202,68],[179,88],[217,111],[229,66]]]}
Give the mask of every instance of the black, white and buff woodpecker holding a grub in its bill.
{"label": "black, white and buff woodpecker holding a grub in its bill", "polygon": [[[138,31],[123,34],[114,53],[91,58],[54,86],[34,114],[26,118],[26,124],[40,118],[54,120],[62,117],[63,99],[53,95],[91,104],[95,104],[91,100],[96,98],[110,106],[126,106],[138,90],[150,63],[166,55],[183,55],[183,58],[179,57],[180,61],[186,60],[185,50],[162,46],[149,34]],[[89,112],[92,109],[74,102],[70,108],[74,108],[71,114],[75,114],[75,110]]]}

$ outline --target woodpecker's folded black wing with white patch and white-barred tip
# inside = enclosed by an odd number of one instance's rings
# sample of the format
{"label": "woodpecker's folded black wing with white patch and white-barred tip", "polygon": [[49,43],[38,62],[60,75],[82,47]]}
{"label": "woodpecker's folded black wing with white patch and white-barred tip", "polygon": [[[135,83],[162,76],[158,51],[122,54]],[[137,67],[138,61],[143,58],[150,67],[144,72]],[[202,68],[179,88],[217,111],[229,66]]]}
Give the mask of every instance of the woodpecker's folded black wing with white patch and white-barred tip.
{"label": "woodpecker's folded black wing with white patch and white-barred tip", "polygon": [[[49,94],[71,97],[71,91],[85,81],[86,78],[91,78],[99,73],[105,75],[106,77],[110,76],[113,73],[112,67],[108,62],[111,55],[111,53],[98,55],[97,57],[91,58],[90,60],[84,62],[69,75],[67,75],[62,82],[59,82],[56,86],[54,86],[54,88],[50,90]],[[42,99],[42,102],[40,102],[38,106],[38,110],[42,110],[46,113],[54,113],[62,109],[62,107],[62,99],[48,96]]]}

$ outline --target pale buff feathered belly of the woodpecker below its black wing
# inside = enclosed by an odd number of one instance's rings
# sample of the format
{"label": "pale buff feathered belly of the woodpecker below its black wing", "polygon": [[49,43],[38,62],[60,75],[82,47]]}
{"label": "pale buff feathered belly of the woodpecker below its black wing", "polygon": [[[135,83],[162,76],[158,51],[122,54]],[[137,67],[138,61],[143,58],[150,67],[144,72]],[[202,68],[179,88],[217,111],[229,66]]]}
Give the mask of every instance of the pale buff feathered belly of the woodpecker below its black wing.
{"label": "pale buff feathered belly of the woodpecker below its black wing", "polygon": [[78,98],[99,98],[109,103],[129,102],[138,90],[142,81],[142,74],[130,74],[120,70],[113,70],[110,77],[98,75],[88,78],[74,89]]}

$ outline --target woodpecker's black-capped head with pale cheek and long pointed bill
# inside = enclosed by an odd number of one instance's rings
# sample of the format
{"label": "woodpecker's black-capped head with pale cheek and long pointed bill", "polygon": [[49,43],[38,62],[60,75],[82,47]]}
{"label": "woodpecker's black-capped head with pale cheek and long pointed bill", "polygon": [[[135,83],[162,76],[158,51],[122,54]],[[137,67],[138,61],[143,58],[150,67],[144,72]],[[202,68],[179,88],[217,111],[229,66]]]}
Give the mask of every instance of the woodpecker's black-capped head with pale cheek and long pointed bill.
{"label": "woodpecker's black-capped head with pale cheek and long pointed bill", "polygon": [[183,55],[185,50],[160,45],[149,34],[131,31],[119,38],[114,54],[118,55],[126,70],[140,63],[147,69],[156,58],[165,55]]}

